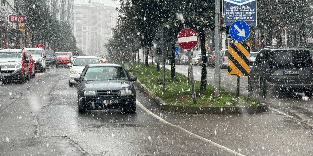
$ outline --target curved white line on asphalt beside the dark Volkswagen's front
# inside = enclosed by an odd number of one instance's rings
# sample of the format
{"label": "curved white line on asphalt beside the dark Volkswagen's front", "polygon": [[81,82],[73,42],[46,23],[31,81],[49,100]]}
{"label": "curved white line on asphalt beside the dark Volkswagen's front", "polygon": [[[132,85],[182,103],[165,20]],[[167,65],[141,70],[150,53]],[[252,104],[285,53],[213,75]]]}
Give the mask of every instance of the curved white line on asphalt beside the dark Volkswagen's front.
{"label": "curved white line on asphalt beside the dark Volkswagen's front", "polygon": [[223,145],[220,145],[220,144],[218,144],[218,143],[215,143],[215,142],[213,142],[213,141],[211,141],[211,140],[209,140],[209,139],[203,138],[203,137],[200,136],[200,135],[194,134],[194,133],[192,133],[192,132],[190,132],[190,131],[188,131],[188,130],[182,128],[182,127],[179,127],[179,126],[177,126],[177,125],[175,125],[175,124],[171,124],[171,123],[165,121],[165,120],[162,119],[161,117],[157,116],[156,114],[154,114],[154,113],[152,113],[150,110],[148,110],[148,109],[147,109],[145,106],[143,106],[138,100],[137,100],[137,105],[139,105],[139,107],[140,107],[141,109],[145,110],[147,113],[149,113],[150,115],[152,115],[153,117],[155,117],[156,119],[160,120],[161,122],[163,122],[163,123],[165,123],[165,124],[171,125],[171,126],[176,127],[176,128],[178,128],[178,129],[180,129],[180,130],[182,130],[182,131],[185,131],[185,132],[187,132],[189,135],[195,136],[196,138],[201,139],[201,140],[203,140],[203,141],[206,141],[207,143],[209,143],[209,144],[211,144],[211,145],[213,145],[213,146],[215,146],[215,147],[218,147],[218,148],[220,148],[220,149],[223,149],[223,150],[225,150],[225,151],[227,151],[227,152],[229,152],[229,153],[231,153],[231,154],[240,155],[240,156],[245,156],[245,155],[240,154],[240,153],[238,153],[238,152],[236,152],[236,151],[234,151],[234,150],[232,150],[232,149],[228,149],[227,147],[225,147],[225,146],[223,146]]}

